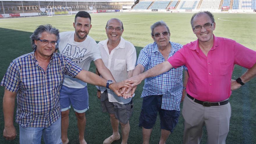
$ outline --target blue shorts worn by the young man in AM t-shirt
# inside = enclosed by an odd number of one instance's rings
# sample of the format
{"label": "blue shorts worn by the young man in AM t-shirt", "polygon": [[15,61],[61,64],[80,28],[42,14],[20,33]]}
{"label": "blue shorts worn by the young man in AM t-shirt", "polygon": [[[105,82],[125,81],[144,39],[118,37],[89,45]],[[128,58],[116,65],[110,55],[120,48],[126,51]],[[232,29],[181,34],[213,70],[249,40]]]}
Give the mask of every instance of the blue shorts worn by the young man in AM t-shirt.
{"label": "blue shorts worn by the young man in AM t-shirt", "polygon": [[72,104],[74,111],[84,113],[89,109],[89,97],[87,86],[84,88],[61,87],[60,103],[61,111],[67,111]]}

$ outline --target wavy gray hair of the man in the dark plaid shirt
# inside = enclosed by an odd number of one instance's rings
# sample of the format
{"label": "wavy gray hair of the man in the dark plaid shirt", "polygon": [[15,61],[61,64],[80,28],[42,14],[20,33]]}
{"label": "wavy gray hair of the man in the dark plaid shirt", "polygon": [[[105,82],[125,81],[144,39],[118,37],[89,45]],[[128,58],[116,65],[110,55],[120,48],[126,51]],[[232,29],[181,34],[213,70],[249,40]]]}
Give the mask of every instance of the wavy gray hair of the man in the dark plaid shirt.
{"label": "wavy gray hair of the man in the dark plaid shirt", "polygon": [[[56,41],[58,42],[59,37],[60,37],[60,35],[59,35],[60,31],[58,29],[56,29],[55,27],[52,27],[50,24],[40,25],[35,29],[33,34],[30,36],[31,45],[32,45],[33,50],[35,50],[36,47],[37,47],[35,45],[35,40],[39,40],[41,38],[43,32],[47,32],[47,33],[50,33],[50,34],[55,34],[56,35]],[[58,45],[56,45],[55,48],[58,49]]]}

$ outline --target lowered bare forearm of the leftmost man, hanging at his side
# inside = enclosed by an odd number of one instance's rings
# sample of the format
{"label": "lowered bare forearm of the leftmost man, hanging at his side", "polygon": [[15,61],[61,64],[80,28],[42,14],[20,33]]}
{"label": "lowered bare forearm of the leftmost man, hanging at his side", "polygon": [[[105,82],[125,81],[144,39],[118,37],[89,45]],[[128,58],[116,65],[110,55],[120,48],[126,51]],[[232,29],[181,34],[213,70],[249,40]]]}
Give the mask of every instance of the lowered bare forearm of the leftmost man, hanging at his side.
{"label": "lowered bare forearm of the leftmost man, hanging at his side", "polygon": [[12,127],[13,124],[13,114],[15,106],[16,93],[12,93],[5,89],[3,96],[3,116],[4,116],[4,126]]}

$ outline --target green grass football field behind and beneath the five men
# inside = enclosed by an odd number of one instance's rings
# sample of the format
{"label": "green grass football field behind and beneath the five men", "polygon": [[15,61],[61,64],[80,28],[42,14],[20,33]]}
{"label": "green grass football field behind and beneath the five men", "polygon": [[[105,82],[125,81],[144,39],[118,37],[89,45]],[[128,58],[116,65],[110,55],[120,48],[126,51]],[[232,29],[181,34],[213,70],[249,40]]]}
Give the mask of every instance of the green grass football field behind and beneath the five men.
{"label": "green grass football field behind and beneath the five men", "polygon": [[[105,25],[110,18],[118,18],[124,24],[123,38],[132,42],[137,50],[140,50],[147,44],[152,43],[150,36],[150,26],[159,20],[163,20],[170,28],[173,42],[186,44],[196,40],[190,26],[190,18],[193,13],[99,13],[91,14],[92,29],[89,35],[97,42],[105,40]],[[256,15],[255,14],[214,14],[216,29],[214,34],[219,37],[226,37],[256,50]],[[219,18],[219,19],[218,19]],[[220,20],[222,19],[222,20]],[[29,36],[40,24],[51,24],[62,31],[74,31],[74,15],[54,16],[54,17],[28,17],[0,19],[0,78],[2,79],[10,62],[23,54],[32,51]],[[95,66],[92,63],[90,71],[95,72]],[[232,79],[241,76],[246,69],[235,66]],[[256,79],[254,78],[239,90],[235,90],[230,97],[232,107],[232,117],[230,120],[230,132],[227,136],[228,144],[253,144],[256,143]],[[131,131],[128,143],[142,143],[142,129],[138,127],[138,118],[140,114],[142,99],[140,98],[143,83],[136,90],[134,97],[134,113],[130,119]],[[95,86],[88,85],[89,107],[86,112],[86,132],[85,139],[88,144],[100,144],[104,139],[112,134],[109,116],[101,111],[101,104],[96,97]],[[4,88],[0,88],[0,101],[3,99]],[[182,104],[181,104],[182,108]],[[15,110],[16,111],[16,110]],[[183,118],[179,117],[179,123],[173,134],[167,140],[167,144],[181,144],[183,137]],[[6,141],[1,137],[4,129],[4,120],[2,104],[0,104],[0,143],[19,143],[19,128],[15,123],[17,137],[13,141]],[[70,126],[68,130],[70,142],[79,143],[77,121],[74,111],[70,111]],[[157,120],[153,128],[150,144],[157,144],[160,138],[160,124]],[[206,143],[207,133],[204,135],[201,143]],[[121,143],[121,140],[113,144]]]}

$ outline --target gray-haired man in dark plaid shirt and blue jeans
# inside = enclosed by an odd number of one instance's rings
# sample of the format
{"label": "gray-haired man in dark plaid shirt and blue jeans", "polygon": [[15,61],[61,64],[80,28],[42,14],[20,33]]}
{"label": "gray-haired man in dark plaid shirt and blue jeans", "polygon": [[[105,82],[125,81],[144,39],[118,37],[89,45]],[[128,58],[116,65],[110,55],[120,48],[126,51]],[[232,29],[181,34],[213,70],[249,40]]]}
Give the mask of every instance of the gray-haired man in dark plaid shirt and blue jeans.
{"label": "gray-haired man in dark plaid shirt and blue jeans", "polygon": [[[38,26],[30,38],[34,51],[13,60],[0,84],[5,87],[3,136],[6,139],[16,137],[13,113],[17,95],[19,142],[41,143],[43,135],[45,143],[62,143],[60,88],[64,75],[99,86],[106,86],[107,80],[82,70],[66,56],[54,53],[59,30],[51,25]],[[108,83],[107,86],[120,96],[118,90],[124,85]]]}

